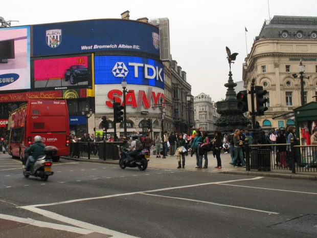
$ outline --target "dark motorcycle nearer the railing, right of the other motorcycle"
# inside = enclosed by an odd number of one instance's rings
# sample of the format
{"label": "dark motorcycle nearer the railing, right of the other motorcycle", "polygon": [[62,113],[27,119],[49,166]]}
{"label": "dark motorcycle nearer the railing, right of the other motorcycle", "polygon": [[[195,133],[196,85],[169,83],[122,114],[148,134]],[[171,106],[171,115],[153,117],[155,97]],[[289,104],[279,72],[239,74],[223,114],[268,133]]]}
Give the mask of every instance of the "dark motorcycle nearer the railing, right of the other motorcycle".
{"label": "dark motorcycle nearer the railing, right of the other motorcycle", "polygon": [[127,161],[126,154],[128,153],[127,149],[120,149],[120,160],[119,166],[124,169],[126,167],[138,167],[140,170],[145,170],[148,165],[150,158],[150,152],[147,149],[143,149],[137,155],[133,156],[133,160]]}

